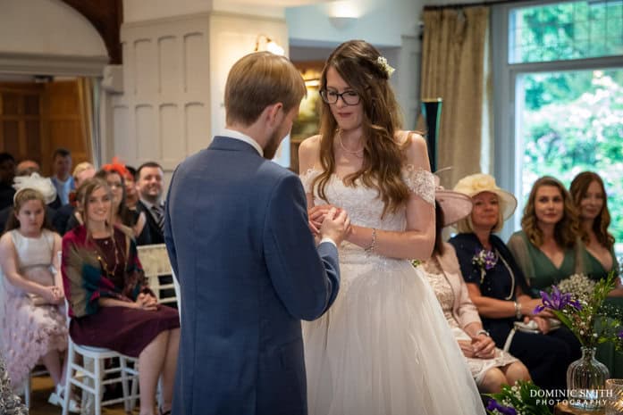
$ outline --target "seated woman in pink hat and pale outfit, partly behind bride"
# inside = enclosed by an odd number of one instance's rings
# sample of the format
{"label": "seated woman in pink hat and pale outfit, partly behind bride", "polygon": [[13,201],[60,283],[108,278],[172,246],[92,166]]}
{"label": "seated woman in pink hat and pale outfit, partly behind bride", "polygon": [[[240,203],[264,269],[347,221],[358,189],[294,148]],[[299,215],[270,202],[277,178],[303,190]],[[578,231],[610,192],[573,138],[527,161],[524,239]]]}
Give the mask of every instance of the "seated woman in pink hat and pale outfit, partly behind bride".
{"label": "seated woman in pink hat and pale outfit, partly behind bride", "polygon": [[472,211],[467,195],[437,187],[435,192],[435,244],[433,256],[424,262],[425,276],[433,287],[443,314],[465,355],[478,389],[497,393],[502,385],[529,380],[526,366],[495,346],[484,330],[476,306],[469,299],[460,274],[459,260],[452,245],[444,243],[442,229],[465,218]]}

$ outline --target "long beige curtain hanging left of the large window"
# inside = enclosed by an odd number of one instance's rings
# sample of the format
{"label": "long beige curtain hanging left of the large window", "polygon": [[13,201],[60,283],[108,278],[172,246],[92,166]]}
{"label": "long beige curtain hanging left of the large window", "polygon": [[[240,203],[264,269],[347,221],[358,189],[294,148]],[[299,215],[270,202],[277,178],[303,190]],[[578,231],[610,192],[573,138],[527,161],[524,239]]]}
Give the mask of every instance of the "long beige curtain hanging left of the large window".
{"label": "long beige curtain hanging left of the large window", "polygon": [[[438,169],[442,185],[488,170],[489,8],[467,7],[424,12],[422,100],[442,98],[438,134]],[[420,120],[418,126],[422,126]]]}

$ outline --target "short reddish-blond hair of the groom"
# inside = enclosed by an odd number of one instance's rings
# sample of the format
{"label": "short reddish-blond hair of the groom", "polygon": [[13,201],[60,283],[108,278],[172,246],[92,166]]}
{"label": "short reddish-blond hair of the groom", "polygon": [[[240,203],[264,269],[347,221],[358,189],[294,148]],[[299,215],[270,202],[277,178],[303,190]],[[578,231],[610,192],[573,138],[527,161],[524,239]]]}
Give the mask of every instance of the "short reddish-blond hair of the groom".
{"label": "short reddish-blond hair of the groom", "polygon": [[305,82],[290,60],[270,52],[248,54],[233,64],[227,76],[227,124],[248,127],[268,105],[277,103],[290,112],[306,94]]}

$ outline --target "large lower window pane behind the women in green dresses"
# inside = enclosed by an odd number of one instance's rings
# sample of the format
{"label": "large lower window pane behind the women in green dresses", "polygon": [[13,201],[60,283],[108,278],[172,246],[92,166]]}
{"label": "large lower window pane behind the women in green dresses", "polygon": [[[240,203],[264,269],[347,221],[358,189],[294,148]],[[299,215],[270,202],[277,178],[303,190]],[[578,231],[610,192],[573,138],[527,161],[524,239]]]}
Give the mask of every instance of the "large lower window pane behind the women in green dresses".
{"label": "large lower window pane behind the women in green dresses", "polygon": [[610,233],[623,252],[623,69],[526,73],[516,120],[523,150],[524,204],[536,178],[551,175],[568,186],[577,173],[602,176],[612,218]]}

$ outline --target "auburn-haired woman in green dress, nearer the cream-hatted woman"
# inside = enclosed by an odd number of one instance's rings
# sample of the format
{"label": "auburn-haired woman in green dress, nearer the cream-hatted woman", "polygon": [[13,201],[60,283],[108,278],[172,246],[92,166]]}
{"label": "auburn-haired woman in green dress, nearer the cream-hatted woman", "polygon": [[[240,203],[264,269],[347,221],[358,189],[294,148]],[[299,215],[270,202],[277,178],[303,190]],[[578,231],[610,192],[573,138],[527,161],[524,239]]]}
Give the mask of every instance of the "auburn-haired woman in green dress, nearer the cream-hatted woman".
{"label": "auburn-haired woman in green dress, nearer the cream-hatted woman", "polygon": [[509,249],[534,296],[584,270],[579,220],[567,189],[556,178],[535,181]]}

